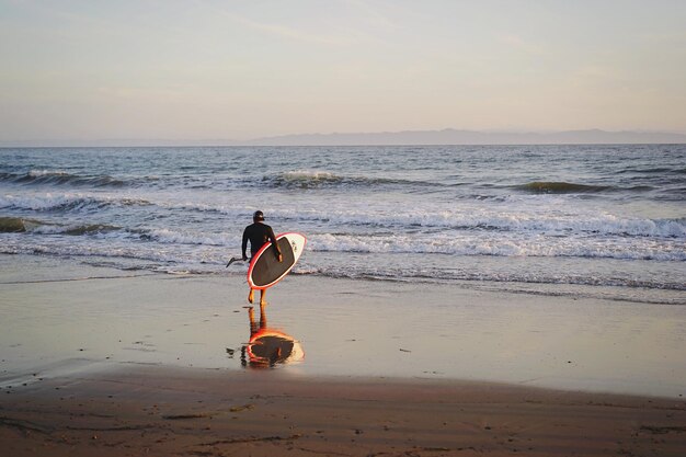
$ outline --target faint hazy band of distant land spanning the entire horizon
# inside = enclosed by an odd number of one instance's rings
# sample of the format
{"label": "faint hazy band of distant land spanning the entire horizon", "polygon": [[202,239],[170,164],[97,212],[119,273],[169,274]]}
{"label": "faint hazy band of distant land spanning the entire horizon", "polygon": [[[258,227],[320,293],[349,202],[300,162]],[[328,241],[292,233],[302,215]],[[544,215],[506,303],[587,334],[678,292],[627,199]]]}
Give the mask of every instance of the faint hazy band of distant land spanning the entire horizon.
{"label": "faint hazy band of distant land spanning the entire horizon", "polygon": [[626,145],[686,144],[685,134],[662,132],[607,132],[599,129],[552,133],[405,130],[358,134],[304,134],[230,139],[100,139],[100,140],[0,140],[0,147],[79,146],[381,146],[381,145]]}

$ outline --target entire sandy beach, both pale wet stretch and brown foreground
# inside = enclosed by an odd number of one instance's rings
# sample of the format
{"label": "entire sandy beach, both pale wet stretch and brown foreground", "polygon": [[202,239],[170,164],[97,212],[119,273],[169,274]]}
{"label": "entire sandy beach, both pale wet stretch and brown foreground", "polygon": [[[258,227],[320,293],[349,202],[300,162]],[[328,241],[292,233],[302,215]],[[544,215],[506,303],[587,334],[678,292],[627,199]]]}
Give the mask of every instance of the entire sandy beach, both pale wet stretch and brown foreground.
{"label": "entire sandy beach, both pale wet stretch and brown foreground", "polygon": [[[7,455],[681,456],[686,444],[679,306],[294,275],[260,316],[240,273],[1,265]],[[249,350],[266,333],[302,355],[270,367]]]}

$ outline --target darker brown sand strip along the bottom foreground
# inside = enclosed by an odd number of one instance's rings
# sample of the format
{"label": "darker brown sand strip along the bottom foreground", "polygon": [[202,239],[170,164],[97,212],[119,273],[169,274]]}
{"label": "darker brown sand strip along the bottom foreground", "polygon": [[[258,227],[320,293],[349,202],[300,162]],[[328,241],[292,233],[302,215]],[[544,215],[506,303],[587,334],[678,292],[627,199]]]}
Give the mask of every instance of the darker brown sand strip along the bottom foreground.
{"label": "darker brown sand strip along the bottom foreground", "polygon": [[126,367],[3,397],[15,457],[681,457],[686,443],[681,400],[484,382]]}

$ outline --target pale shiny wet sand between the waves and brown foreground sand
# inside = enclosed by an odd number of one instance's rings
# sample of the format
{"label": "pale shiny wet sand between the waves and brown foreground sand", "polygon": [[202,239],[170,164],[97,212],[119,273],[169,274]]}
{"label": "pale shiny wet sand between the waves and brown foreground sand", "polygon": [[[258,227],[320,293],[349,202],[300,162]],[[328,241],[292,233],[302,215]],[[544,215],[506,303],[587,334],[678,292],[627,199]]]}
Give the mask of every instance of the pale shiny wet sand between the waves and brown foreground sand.
{"label": "pale shiny wet sand between the waves and brown foreground sand", "polygon": [[301,345],[300,361],[277,363],[299,375],[686,396],[681,306],[300,275],[268,292],[251,325],[242,276],[27,255],[0,266],[0,386],[89,365],[243,370],[260,366],[243,353],[262,329]]}

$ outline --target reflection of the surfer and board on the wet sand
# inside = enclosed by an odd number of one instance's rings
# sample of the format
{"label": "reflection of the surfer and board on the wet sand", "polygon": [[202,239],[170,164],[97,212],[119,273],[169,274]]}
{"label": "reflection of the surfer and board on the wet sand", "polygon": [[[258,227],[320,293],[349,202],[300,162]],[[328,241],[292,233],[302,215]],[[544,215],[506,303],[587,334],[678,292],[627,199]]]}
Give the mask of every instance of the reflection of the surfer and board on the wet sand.
{"label": "reflection of the surfer and board on the wet sand", "polygon": [[305,353],[293,336],[266,325],[266,312],[260,307],[260,322],[255,322],[254,310],[248,308],[250,319],[250,343],[241,350],[241,364],[253,367],[271,367],[276,364],[300,362]]}

